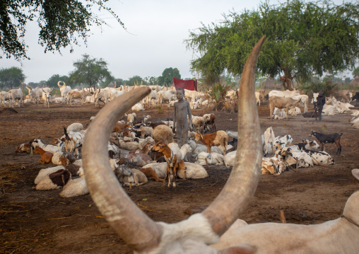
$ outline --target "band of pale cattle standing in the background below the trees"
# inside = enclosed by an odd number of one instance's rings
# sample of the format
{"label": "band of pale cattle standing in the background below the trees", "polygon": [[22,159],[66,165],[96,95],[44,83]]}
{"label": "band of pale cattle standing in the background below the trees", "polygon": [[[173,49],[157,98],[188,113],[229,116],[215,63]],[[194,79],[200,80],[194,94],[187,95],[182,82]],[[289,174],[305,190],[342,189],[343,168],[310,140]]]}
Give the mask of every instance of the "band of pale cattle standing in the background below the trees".
{"label": "band of pale cattle standing in the background below the trees", "polygon": [[[63,83],[61,86],[61,82]],[[53,88],[31,88],[25,86],[28,89],[28,96],[23,96],[23,91],[18,89],[11,89],[10,91],[1,91],[0,100],[1,103],[6,106],[14,107],[15,103],[20,107],[23,103],[44,103],[44,107],[49,108],[50,103],[67,103],[72,106],[73,101],[83,103],[95,103],[95,106],[99,106],[100,103],[107,103],[113,100],[117,96],[121,96],[127,91],[131,91],[137,86],[119,86],[118,88],[83,88],[81,90],[71,89],[70,86],[66,86],[63,81],[57,83],[61,96],[52,95]],[[151,93],[143,98],[140,103],[136,103],[131,109],[134,111],[145,110],[145,108],[151,107],[151,105],[162,105],[168,103],[168,107],[173,106],[176,100],[175,88],[164,86],[150,86]],[[208,107],[213,105],[213,100],[207,93],[198,91],[184,90],[184,97],[189,101],[192,109]],[[226,100],[235,102],[237,100],[238,91],[230,90],[225,97]],[[319,93],[312,93],[312,103],[315,103]],[[257,91],[255,93],[257,103],[260,105],[261,101],[265,98],[269,100],[270,117],[274,119],[288,120],[289,115],[301,114],[301,108],[304,108],[305,117],[315,117],[314,112],[307,112],[309,96],[300,94],[299,91],[270,91],[264,96],[264,91]],[[341,101],[336,100],[341,99]],[[352,100],[356,101],[356,105],[359,103],[359,92],[353,96],[352,91],[343,90],[326,99],[322,115],[334,115],[343,112],[352,112],[354,116],[351,120],[351,124],[355,128],[359,128],[359,120],[355,119],[359,115],[359,110],[351,109],[354,106],[350,104]]]}

